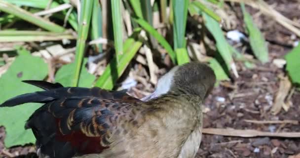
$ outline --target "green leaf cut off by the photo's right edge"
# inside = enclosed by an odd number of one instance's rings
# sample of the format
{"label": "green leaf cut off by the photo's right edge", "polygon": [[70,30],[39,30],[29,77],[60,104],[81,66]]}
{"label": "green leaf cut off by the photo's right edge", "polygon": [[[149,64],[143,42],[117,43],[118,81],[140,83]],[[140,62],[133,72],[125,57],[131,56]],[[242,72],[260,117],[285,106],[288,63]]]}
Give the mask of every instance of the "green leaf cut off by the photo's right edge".
{"label": "green leaf cut off by the photo's right edge", "polygon": [[293,83],[300,84],[300,44],[292,49],[286,56],[287,67],[286,70]]}

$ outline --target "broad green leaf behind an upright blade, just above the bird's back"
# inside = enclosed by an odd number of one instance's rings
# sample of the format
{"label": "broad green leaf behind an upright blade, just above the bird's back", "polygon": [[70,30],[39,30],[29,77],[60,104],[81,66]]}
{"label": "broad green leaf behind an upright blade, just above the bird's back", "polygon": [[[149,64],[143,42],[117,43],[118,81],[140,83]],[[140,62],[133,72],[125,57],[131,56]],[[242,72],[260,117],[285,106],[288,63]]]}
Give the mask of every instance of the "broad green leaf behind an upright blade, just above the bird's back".
{"label": "broad green leaf behind an upright blade, just above the bird's back", "polygon": [[[83,60],[82,67],[81,67],[81,73],[79,77],[78,86],[79,87],[91,87],[93,82],[95,81],[96,77],[90,73],[87,72],[85,68],[85,64],[87,63],[87,59]],[[56,75],[55,75],[55,81],[61,83],[64,86],[72,86],[72,79],[70,76],[74,76],[75,72],[75,63],[64,65],[62,68],[60,68]]]}

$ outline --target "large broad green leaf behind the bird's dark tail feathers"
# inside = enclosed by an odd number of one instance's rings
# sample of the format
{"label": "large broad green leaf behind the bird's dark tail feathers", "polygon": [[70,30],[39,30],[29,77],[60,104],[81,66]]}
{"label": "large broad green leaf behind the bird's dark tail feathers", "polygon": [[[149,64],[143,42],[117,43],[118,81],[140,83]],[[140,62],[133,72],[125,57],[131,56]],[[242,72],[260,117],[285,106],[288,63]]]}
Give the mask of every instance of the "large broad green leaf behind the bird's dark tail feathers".
{"label": "large broad green leaf behind the bird's dark tail feathers", "polygon": [[[22,80],[42,80],[47,75],[47,64],[41,58],[20,52],[9,69],[0,78],[0,103],[16,95],[39,91],[38,87],[21,82]],[[31,130],[25,130],[26,120],[39,107],[39,104],[28,103],[16,107],[0,108],[0,125],[6,129],[5,146],[34,143]]]}

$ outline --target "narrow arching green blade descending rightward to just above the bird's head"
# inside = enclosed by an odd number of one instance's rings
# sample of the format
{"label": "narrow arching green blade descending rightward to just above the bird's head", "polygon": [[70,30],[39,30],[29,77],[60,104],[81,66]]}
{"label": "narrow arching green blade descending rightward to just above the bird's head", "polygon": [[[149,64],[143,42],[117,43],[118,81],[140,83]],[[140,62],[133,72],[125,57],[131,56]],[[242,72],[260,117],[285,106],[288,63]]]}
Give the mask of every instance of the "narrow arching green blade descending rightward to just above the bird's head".
{"label": "narrow arching green blade descending rightward to just above the bird's head", "polygon": [[164,39],[147,21],[142,18],[134,18],[134,21],[137,22],[144,30],[146,30],[151,36],[153,36],[168,52],[172,62],[176,63],[176,55],[171,45],[167,40]]}

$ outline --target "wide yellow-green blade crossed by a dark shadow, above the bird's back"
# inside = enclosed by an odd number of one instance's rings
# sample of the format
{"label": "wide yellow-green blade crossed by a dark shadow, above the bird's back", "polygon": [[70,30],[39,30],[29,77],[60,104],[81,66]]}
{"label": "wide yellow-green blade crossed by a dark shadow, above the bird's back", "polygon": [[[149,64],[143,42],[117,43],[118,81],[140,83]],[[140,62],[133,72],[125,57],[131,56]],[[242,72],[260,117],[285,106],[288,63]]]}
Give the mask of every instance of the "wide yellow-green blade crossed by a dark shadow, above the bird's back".
{"label": "wide yellow-green blade crossed by a dark shadow, above the bird's back", "polygon": [[118,64],[116,63],[116,58],[114,57],[110,64],[107,65],[102,76],[96,81],[95,86],[101,87],[103,89],[113,88],[113,85],[116,82],[116,80],[122,75],[127,65],[130,63],[134,55],[138,52],[138,50],[143,44],[142,41],[135,40],[133,38],[134,36],[125,40],[124,53],[119,55]]}

